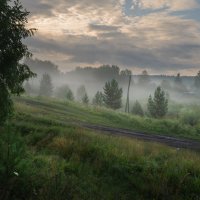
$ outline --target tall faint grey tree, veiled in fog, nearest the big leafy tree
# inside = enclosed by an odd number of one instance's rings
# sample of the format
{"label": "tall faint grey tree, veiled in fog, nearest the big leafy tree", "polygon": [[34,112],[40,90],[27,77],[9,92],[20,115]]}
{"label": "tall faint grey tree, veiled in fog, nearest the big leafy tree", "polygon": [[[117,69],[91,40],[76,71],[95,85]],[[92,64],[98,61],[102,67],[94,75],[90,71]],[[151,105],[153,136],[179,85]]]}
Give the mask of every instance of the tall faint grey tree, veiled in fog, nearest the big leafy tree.
{"label": "tall faint grey tree, veiled in fog, nearest the big leafy tree", "polygon": [[51,77],[48,74],[43,74],[42,79],[40,81],[40,96],[51,97],[53,93],[53,85],[51,81]]}

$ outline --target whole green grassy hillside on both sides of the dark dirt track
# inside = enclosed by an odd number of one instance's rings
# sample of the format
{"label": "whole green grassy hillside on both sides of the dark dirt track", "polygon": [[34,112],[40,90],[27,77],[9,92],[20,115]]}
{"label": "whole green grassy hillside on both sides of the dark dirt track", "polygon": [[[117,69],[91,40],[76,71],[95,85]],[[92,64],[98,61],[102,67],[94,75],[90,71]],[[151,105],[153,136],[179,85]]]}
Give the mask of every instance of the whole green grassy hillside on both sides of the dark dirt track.
{"label": "whole green grassy hillside on both sides of the dark dirt track", "polygon": [[160,133],[156,124],[169,123],[161,134],[199,138],[196,127],[170,133],[178,120],[47,99],[15,99],[15,109],[11,123],[0,128],[0,199],[200,199],[198,152],[98,134],[78,124]]}

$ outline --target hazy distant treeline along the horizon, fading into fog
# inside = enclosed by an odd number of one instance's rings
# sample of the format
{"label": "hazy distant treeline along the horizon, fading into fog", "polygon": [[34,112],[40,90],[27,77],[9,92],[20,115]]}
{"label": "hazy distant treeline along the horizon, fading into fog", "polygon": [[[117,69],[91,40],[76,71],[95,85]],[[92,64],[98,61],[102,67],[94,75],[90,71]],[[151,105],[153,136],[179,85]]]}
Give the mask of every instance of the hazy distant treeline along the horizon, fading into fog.
{"label": "hazy distant treeline along the horizon, fading into fog", "polygon": [[195,90],[199,88],[200,72],[194,77],[182,77],[181,74],[174,76],[151,76],[148,71],[144,70],[139,75],[133,75],[129,69],[121,70],[116,65],[102,65],[97,68],[94,67],[77,67],[70,72],[61,72],[58,66],[50,61],[41,61],[38,59],[26,59],[25,64],[30,66],[30,69],[38,75],[41,79],[43,74],[49,74],[54,82],[61,84],[62,82],[79,82],[82,84],[87,83],[101,83],[115,79],[120,85],[127,84],[128,76],[132,75],[132,84],[139,87],[151,87],[155,88],[156,84],[161,85],[167,90],[177,90],[180,92],[187,92],[188,90]]}

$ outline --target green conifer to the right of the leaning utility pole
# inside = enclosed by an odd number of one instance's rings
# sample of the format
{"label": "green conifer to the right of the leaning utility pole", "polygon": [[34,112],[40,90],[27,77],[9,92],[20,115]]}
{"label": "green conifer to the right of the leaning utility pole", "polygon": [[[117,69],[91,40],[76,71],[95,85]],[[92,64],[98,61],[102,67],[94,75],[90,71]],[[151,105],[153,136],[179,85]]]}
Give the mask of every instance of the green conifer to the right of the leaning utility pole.
{"label": "green conifer to the right of the leaning utility pole", "polygon": [[147,107],[153,117],[164,117],[167,114],[168,99],[161,87],[157,87],[155,90],[154,98],[151,95],[149,96]]}

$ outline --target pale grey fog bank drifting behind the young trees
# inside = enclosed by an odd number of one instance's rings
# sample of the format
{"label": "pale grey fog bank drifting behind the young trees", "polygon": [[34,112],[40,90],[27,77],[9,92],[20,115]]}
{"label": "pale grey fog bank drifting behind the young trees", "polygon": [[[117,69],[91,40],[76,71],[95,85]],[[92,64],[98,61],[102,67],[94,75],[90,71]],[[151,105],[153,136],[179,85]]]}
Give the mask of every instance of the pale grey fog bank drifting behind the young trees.
{"label": "pale grey fog bank drifting behind the young trees", "polygon": [[[77,67],[67,73],[59,71],[58,66],[41,60],[26,60],[25,63],[30,69],[37,73],[36,78],[29,80],[31,87],[30,95],[38,96],[40,81],[43,74],[49,74],[53,85],[52,96],[56,97],[56,91],[62,86],[68,86],[77,100],[77,90],[80,86],[85,86],[90,103],[97,91],[103,92],[103,87],[107,81],[116,79],[123,89],[123,107],[127,98],[130,71],[120,69],[118,66],[103,65],[100,68]],[[134,75],[132,72],[130,85],[130,104],[138,100],[145,104],[149,95],[153,95],[155,89],[161,86],[171,102],[177,103],[199,103],[200,92],[194,87],[194,77],[150,75],[145,70],[141,75]],[[25,83],[26,84],[26,83]]]}

